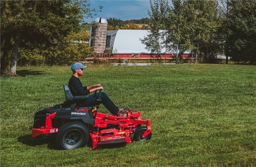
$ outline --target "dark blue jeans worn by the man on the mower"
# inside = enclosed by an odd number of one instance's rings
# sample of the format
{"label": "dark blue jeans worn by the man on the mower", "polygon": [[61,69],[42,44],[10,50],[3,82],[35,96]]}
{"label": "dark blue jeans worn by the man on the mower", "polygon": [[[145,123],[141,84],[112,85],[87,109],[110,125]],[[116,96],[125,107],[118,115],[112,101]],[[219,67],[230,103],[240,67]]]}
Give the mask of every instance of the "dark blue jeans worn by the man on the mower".
{"label": "dark blue jeans worn by the man on the mower", "polygon": [[116,115],[119,111],[119,108],[109,99],[108,95],[104,92],[101,92],[101,101],[97,101],[99,93],[89,95],[89,98],[86,99],[85,103],[79,105],[79,107],[89,107],[103,104],[113,115]]}

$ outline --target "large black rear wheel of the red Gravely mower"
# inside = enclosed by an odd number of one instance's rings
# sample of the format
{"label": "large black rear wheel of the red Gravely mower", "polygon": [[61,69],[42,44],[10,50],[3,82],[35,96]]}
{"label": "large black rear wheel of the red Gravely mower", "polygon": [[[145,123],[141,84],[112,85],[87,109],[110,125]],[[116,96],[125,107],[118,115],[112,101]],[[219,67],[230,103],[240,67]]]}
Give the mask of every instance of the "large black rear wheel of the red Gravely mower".
{"label": "large black rear wheel of the red Gravely mower", "polygon": [[89,137],[89,130],[84,124],[69,122],[59,128],[56,134],[56,146],[63,150],[84,147]]}

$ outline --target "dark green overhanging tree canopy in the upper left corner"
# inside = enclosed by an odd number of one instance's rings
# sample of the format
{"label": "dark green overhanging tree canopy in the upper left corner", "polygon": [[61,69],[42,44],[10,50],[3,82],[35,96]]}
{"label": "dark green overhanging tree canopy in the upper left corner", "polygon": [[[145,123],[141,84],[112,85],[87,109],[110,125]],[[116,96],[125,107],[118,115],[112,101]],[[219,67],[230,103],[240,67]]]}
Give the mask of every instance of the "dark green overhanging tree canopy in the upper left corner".
{"label": "dark green overhanging tree canopy in the upper left corner", "polygon": [[[5,4],[2,7],[2,4]],[[54,40],[77,31],[83,13],[79,1],[1,1],[1,34],[21,34],[21,39],[55,43]]]}

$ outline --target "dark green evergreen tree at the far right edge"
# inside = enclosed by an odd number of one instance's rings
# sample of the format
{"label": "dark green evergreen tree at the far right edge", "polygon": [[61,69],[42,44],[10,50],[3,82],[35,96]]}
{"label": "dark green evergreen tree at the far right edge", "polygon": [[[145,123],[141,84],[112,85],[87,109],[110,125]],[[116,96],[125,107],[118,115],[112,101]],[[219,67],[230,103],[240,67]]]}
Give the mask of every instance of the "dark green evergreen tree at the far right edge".
{"label": "dark green evergreen tree at the far right edge", "polygon": [[231,60],[256,63],[256,1],[230,1],[226,54]]}

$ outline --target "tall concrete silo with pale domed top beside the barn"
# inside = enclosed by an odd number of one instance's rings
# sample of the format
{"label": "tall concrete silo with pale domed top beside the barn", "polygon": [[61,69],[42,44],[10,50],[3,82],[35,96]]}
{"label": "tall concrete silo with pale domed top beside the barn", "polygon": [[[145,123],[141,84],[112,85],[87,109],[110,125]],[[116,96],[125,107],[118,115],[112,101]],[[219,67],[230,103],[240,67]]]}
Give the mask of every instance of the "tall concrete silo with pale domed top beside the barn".
{"label": "tall concrete silo with pale domed top beside the barn", "polygon": [[90,45],[97,54],[101,54],[106,48],[108,21],[102,17],[98,17],[94,21],[95,25],[91,26],[90,29],[90,36],[92,37]]}

